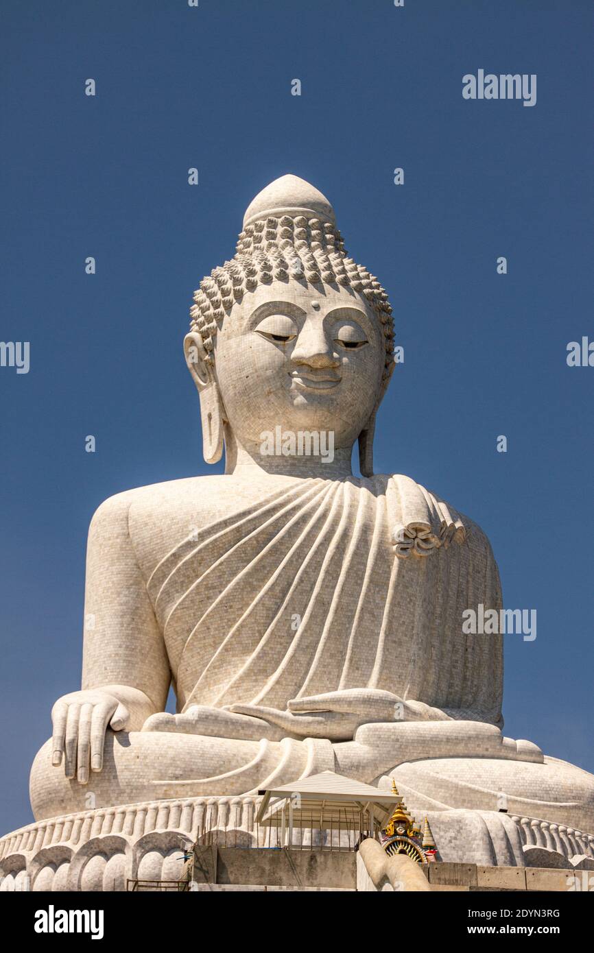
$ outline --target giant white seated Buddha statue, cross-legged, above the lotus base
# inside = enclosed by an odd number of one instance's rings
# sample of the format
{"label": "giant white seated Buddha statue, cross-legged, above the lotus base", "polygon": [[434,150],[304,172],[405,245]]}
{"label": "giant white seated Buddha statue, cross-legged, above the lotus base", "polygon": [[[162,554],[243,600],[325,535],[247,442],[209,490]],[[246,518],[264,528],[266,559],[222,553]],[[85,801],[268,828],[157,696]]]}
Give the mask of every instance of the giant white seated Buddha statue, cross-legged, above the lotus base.
{"label": "giant white seated Buddha statue, cross-legged, above the lotus base", "polygon": [[259,193],[191,315],[204,456],[224,453],[225,474],[94,515],[82,689],[53,706],[36,819],[89,789],[104,806],[331,769],[390,774],[425,808],[497,810],[504,792],[510,811],[594,830],[594,779],[502,736],[501,637],[462,632],[466,609],[502,604],[488,540],[409,477],[373,474],[391,308],[327,199],[293,175]]}

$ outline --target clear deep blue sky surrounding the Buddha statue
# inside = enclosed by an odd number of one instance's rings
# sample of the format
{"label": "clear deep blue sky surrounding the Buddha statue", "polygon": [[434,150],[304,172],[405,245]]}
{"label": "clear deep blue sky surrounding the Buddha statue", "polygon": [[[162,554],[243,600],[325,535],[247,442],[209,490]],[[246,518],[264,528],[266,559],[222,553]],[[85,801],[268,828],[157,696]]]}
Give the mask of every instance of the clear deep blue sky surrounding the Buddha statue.
{"label": "clear deep blue sky surrounding the Buddha statue", "polygon": [[[479,522],[505,604],[538,612],[535,641],[505,637],[505,734],[594,771],[594,367],[565,360],[594,339],[589,0],[4,0],[1,19],[0,339],[30,341],[31,370],[0,368],[0,833],[31,821],[51,705],[80,687],[93,511],[213,472],[188,309],[285,172],[394,305],[377,472]],[[463,100],[479,69],[537,73],[536,106]]]}

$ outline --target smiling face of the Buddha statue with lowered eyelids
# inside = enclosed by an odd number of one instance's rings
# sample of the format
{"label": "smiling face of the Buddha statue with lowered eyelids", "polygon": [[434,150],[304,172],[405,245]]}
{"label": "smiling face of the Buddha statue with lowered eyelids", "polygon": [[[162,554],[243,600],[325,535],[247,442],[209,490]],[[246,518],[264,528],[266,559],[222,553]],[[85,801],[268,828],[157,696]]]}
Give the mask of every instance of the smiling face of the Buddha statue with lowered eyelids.
{"label": "smiling face of the Buddha statue with lowered eyelids", "polygon": [[215,336],[218,389],[246,448],[278,425],[352,446],[376,405],[384,358],[381,324],[362,295],[297,280],[258,285]]}

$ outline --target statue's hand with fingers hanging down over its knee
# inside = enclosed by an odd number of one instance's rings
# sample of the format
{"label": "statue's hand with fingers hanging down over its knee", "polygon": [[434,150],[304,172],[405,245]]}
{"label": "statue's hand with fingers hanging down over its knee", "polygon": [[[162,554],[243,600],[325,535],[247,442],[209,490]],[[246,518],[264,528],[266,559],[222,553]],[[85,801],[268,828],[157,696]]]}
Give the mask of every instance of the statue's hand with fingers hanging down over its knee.
{"label": "statue's hand with fingers hanging down over its knee", "polygon": [[140,727],[153,712],[154,704],[144,692],[128,685],[106,685],[63,695],[51,709],[51,763],[57,767],[64,756],[66,777],[86,784],[90,763],[92,771],[103,768],[107,729]]}

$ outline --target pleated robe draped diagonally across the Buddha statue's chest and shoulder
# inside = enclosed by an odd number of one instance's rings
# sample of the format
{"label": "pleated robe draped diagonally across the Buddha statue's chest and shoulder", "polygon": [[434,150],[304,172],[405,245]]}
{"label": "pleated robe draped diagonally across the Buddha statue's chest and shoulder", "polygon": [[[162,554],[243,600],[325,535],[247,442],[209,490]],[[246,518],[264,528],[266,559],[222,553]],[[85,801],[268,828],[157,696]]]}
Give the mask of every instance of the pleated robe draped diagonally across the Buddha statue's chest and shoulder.
{"label": "pleated robe draped diagonally across the Buddha statue's chest and shoulder", "polygon": [[[462,633],[500,608],[497,566],[451,513],[407,477],[301,478],[181,539],[147,583],[178,710],[369,687],[499,724],[502,639]],[[419,516],[435,535],[399,558]]]}

